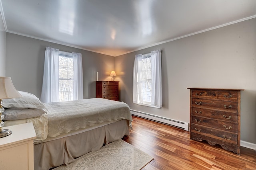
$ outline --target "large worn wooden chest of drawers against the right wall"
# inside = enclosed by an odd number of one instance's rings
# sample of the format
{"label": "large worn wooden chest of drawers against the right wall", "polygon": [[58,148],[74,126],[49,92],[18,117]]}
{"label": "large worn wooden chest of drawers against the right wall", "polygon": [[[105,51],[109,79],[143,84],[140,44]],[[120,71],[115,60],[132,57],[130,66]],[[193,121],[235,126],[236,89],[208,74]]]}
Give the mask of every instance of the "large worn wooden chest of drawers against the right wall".
{"label": "large worn wooden chest of drawers against the right wall", "polygon": [[240,89],[190,89],[190,139],[240,155]]}

